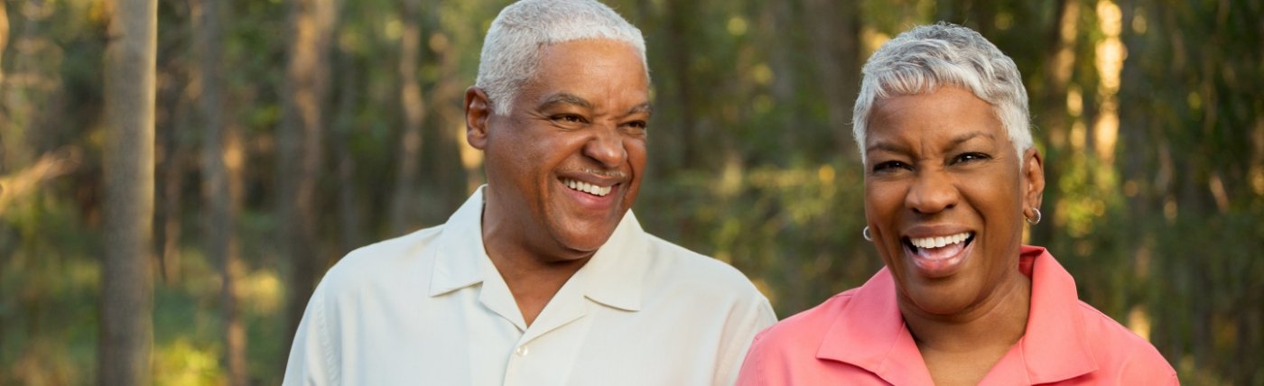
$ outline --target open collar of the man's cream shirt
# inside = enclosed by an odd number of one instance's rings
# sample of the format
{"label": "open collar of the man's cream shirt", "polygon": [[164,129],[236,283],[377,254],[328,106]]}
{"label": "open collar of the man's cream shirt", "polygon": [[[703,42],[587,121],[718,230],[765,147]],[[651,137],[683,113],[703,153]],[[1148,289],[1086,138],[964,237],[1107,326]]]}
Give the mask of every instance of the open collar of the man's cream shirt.
{"label": "open collar of the man's cream shirt", "polygon": [[[478,190],[444,226],[436,240],[436,261],[430,285],[430,296],[439,296],[454,290],[483,283],[484,267],[490,265],[483,246],[483,203],[484,189]],[[614,228],[611,238],[597,250],[592,260],[584,265],[571,280],[580,285],[588,299],[623,310],[641,309],[645,275],[650,269],[648,235],[641,228],[636,216],[628,211]]]}

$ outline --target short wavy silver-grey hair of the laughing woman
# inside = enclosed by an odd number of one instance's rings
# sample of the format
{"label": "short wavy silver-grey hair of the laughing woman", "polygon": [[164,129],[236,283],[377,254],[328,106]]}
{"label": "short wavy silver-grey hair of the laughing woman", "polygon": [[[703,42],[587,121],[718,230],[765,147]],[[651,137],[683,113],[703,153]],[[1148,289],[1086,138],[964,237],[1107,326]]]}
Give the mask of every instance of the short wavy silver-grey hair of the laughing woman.
{"label": "short wavy silver-grey hair of the laughing woman", "polygon": [[[938,23],[908,30],[882,44],[862,69],[852,134],[865,160],[865,135],[873,103],[892,96],[934,92],[942,86],[969,90],[992,105],[996,119],[1021,158],[1031,148],[1028,95],[1014,59],[991,42],[956,24]],[[1019,161],[1019,168],[1021,168]]]}

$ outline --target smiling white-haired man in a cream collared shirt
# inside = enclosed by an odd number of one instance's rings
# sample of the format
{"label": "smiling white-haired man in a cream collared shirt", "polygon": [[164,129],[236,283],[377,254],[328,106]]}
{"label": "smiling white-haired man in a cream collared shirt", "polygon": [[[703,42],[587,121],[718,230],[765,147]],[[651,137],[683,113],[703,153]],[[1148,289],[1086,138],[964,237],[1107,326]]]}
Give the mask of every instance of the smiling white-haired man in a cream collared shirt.
{"label": "smiling white-haired man in a cream collared shirt", "polygon": [[590,0],[492,23],[465,93],[488,184],[325,276],[287,385],[728,385],[775,322],[733,267],[628,211],[650,121],[641,32]]}

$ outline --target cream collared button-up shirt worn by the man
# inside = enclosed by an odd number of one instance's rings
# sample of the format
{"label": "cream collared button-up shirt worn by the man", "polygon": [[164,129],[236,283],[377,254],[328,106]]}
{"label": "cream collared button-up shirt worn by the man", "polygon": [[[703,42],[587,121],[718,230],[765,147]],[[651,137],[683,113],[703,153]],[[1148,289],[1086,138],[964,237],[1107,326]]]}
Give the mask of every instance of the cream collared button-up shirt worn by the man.
{"label": "cream collared button-up shirt worn by the man", "polygon": [[482,192],[447,223],[330,269],[284,385],[732,385],[776,322],[736,269],[628,212],[527,327],[483,249]]}

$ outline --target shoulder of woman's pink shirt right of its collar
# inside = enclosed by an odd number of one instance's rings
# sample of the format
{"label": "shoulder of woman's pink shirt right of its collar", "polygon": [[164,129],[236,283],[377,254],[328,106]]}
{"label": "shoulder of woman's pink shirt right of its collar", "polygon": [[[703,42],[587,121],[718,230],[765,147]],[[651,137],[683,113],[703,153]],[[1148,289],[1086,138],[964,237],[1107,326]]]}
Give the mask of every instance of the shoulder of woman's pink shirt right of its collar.
{"label": "shoulder of woman's pink shirt right of its collar", "polygon": [[1079,314],[1087,338],[1096,342],[1091,347],[1098,366],[1120,371],[1125,376],[1176,377],[1172,365],[1145,338],[1085,301],[1079,301]]}

